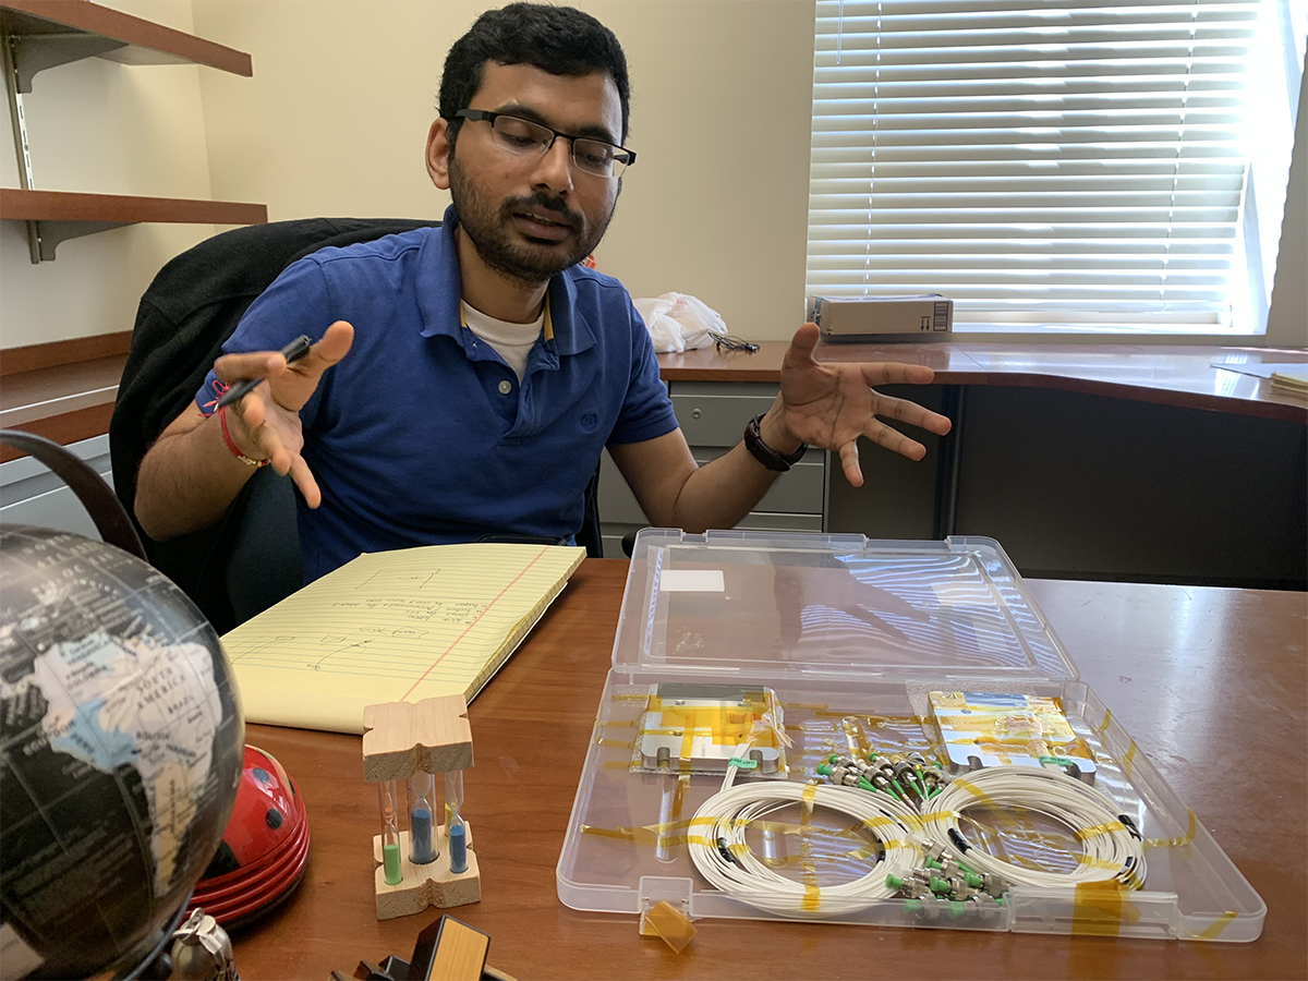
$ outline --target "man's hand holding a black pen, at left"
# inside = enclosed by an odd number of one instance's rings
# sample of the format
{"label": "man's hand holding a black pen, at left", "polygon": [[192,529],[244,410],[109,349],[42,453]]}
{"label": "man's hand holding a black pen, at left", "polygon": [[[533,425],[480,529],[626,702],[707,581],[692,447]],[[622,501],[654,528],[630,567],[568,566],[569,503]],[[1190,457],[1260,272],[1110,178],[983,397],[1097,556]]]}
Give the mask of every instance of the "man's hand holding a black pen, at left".
{"label": "man's hand holding a black pen, at left", "polygon": [[322,492],[300,455],[305,445],[300,409],[318,388],[323,371],[349,353],[353,340],[354,328],[336,320],[307,354],[289,365],[276,351],[224,354],[213,362],[213,373],[228,385],[263,379],[263,385],[228,407],[228,432],[247,456],[267,459],[279,473],[289,473],[310,508],[322,504]]}

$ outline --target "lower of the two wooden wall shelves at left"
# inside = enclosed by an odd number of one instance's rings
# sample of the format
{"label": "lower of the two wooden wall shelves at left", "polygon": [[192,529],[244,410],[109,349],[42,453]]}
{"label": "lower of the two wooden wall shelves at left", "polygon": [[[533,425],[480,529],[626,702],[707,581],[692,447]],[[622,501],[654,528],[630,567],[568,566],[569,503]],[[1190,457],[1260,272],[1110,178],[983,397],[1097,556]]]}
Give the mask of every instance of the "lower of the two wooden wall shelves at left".
{"label": "lower of the two wooden wall shelves at left", "polygon": [[144,221],[181,225],[262,225],[268,220],[268,208],[263,204],[237,201],[0,188],[0,218],[35,222],[41,259],[51,262],[55,258],[55,249],[61,242],[111,228]]}

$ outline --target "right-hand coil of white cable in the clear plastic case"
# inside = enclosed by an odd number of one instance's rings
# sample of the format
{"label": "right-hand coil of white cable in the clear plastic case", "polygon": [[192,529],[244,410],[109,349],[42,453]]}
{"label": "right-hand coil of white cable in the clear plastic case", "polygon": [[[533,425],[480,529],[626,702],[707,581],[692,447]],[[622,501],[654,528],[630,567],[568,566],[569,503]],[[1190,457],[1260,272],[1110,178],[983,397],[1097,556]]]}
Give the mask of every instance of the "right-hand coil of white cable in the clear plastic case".
{"label": "right-hand coil of white cable in the clear plastic case", "polygon": [[[963,811],[982,806],[1025,808],[1067,825],[1084,849],[1076,869],[1069,872],[1028,869],[982,852],[959,828]],[[1144,883],[1144,849],[1130,819],[1124,824],[1124,816],[1108,797],[1052,769],[999,766],[968,773],[931,798],[925,810],[930,810],[922,818],[927,838],[944,845],[969,869],[1007,883],[1066,888],[1116,879],[1133,889]]]}

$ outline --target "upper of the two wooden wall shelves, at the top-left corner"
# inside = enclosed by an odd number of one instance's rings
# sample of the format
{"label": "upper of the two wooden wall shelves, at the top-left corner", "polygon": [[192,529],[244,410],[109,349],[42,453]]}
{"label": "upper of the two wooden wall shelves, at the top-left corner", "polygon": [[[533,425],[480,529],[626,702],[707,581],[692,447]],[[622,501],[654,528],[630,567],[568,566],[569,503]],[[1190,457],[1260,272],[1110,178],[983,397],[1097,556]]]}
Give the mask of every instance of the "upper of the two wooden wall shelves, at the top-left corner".
{"label": "upper of the two wooden wall shelves, at the top-left corner", "polygon": [[88,0],[3,0],[0,33],[14,42],[18,92],[37,72],[103,58],[122,64],[203,64],[250,77],[250,55]]}

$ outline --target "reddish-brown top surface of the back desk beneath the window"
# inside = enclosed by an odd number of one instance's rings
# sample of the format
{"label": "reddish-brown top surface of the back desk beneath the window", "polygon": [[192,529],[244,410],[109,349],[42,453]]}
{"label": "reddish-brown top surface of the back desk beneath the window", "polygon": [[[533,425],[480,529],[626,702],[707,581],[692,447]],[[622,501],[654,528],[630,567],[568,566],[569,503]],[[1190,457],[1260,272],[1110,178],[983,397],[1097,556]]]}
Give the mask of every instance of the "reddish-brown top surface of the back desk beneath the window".
{"label": "reddish-brown top surface of the back desk beneath the window", "polygon": [[[670,382],[776,382],[782,341],[759,351],[714,348],[659,354]],[[1214,358],[1248,364],[1303,364],[1308,349],[1130,344],[820,344],[819,361],[905,361],[927,365],[942,385],[1014,385],[1112,395],[1138,402],[1236,412],[1308,424],[1308,396],[1274,388],[1265,378],[1224,371]]]}

